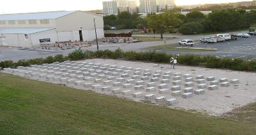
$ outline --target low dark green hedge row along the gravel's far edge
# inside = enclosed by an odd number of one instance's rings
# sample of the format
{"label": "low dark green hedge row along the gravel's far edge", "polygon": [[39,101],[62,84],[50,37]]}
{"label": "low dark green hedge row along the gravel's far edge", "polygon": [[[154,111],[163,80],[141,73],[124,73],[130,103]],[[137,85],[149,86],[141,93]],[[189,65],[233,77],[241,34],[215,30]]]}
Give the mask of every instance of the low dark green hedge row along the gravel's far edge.
{"label": "low dark green hedge row along the gravel's far edge", "polygon": [[[17,66],[30,66],[33,64],[64,62],[65,60],[82,60],[84,58],[122,58],[124,60],[140,60],[156,63],[169,63],[172,54],[167,54],[158,51],[122,51],[122,49],[116,49],[111,51],[109,49],[100,51],[83,51],[82,49],[76,49],[75,51],[64,57],[63,55],[55,55],[55,57],[49,56],[46,58],[33,58],[30,60],[19,60],[13,62],[12,60],[6,60],[0,62],[0,67],[12,67]],[[178,64],[184,64],[188,66],[205,66],[208,68],[225,68],[236,71],[256,71],[256,60],[246,61],[241,58],[216,58],[212,56],[201,55],[180,55],[178,58]]]}

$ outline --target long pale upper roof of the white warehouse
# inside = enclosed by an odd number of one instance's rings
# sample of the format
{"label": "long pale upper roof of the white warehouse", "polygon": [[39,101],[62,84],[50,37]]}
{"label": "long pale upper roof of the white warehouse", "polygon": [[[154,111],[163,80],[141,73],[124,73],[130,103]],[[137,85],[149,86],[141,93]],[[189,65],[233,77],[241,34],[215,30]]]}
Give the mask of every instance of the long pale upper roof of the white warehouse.
{"label": "long pale upper roof of the white warehouse", "polygon": [[57,19],[59,17],[68,15],[73,12],[77,12],[77,11],[3,14],[3,15],[0,15],[0,21]]}

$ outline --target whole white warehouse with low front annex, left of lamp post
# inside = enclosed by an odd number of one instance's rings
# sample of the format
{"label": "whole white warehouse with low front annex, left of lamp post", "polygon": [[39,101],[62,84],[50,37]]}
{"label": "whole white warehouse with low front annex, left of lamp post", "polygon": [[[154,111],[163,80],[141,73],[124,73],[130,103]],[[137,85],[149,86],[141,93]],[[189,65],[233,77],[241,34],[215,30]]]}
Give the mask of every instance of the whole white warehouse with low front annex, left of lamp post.
{"label": "whole white warehouse with low front annex, left of lamp post", "polygon": [[[95,23],[94,23],[95,19]],[[0,46],[32,48],[42,42],[93,41],[104,38],[103,17],[82,11],[0,15]]]}

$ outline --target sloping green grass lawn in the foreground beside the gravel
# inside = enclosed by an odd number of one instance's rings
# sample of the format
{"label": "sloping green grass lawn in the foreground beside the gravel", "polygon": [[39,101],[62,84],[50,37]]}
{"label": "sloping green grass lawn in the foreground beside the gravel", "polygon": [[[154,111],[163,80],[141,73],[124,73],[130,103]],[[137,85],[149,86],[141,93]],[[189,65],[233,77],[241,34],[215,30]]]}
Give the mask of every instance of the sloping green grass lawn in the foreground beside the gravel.
{"label": "sloping green grass lawn in the foreground beside the gravel", "polygon": [[[250,107],[251,111],[256,111]],[[255,118],[255,113],[246,118]],[[256,121],[133,102],[0,73],[0,134],[255,134]]]}

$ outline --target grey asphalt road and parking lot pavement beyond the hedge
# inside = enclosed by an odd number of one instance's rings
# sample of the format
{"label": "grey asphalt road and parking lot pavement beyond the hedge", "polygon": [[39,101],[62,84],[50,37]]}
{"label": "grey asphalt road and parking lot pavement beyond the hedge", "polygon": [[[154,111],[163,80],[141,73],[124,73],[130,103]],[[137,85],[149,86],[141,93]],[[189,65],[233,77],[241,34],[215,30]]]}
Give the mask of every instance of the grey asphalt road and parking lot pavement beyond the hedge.
{"label": "grey asphalt road and parking lot pavement beyond the hedge", "polygon": [[[136,35],[140,36],[140,35]],[[145,36],[145,35],[142,35]],[[147,35],[147,36],[154,36],[154,35]],[[164,37],[176,37],[173,40],[167,40],[167,44],[177,43],[179,40],[182,39],[192,39],[198,40],[203,37],[209,37],[211,35],[164,35]],[[179,54],[186,54],[186,53],[193,53],[198,55],[214,55],[218,57],[242,57],[242,58],[256,58],[256,36],[252,36],[249,39],[239,39],[239,40],[232,40],[228,42],[221,42],[211,44],[216,46],[219,51],[185,51],[185,50],[167,50],[167,49],[156,49],[156,51],[165,51],[166,53],[179,53]],[[100,49],[110,49],[114,50],[117,48],[123,49],[123,51],[148,51],[150,49],[145,49],[150,46],[157,46],[165,44],[164,41],[154,41],[154,42],[138,42],[138,43],[122,43],[122,44],[100,44]],[[203,47],[208,44],[201,44],[198,43],[195,46]],[[88,48],[83,48],[87,50],[96,50],[96,45]],[[49,55],[57,55],[63,54],[68,55],[74,49],[68,50],[59,50],[59,51],[49,51],[49,50],[26,50],[26,49],[18,49],[18,48],[0,48],[0,61],[2,60],[14,60],[17,61],[19,59],[30,59],[30,58],[38,58],[38,57],[47,57]]]}

